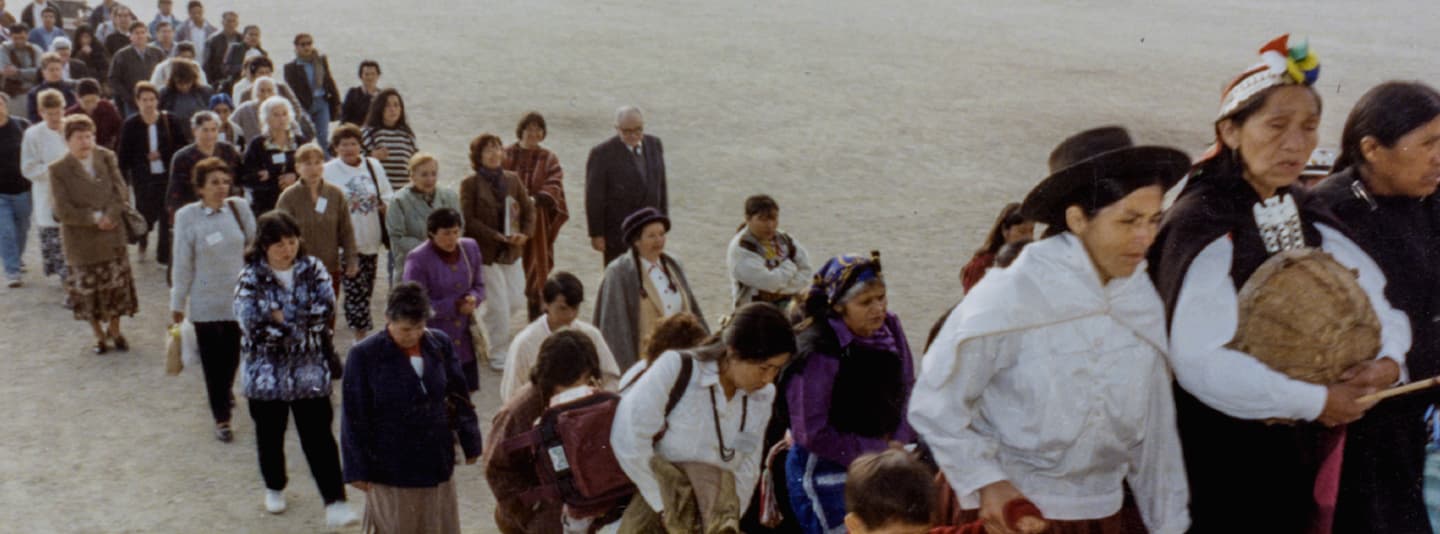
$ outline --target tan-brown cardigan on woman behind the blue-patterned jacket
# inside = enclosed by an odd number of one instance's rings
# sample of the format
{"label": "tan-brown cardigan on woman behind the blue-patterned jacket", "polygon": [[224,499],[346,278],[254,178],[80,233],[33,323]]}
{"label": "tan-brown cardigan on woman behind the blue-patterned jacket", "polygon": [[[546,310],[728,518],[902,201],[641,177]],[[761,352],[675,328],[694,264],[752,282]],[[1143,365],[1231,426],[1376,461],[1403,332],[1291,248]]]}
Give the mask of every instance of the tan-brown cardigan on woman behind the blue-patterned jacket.
{"label": "tan-brown cardigan on woman behind the blue-patterned jacket", "polygon": [[[320,200],[325,202],[323,213],[317,210]],[[305,181],[298,180],[279,194],[275,209],[295,217],[305,253],[320,258],[320,262],[325,263],[325,271],[341,272],[346,266],[360,265],[346,193],[321,181],[320,200],[311,200]],[[346,250],[344,263],[340,262],[341,248]]]}

